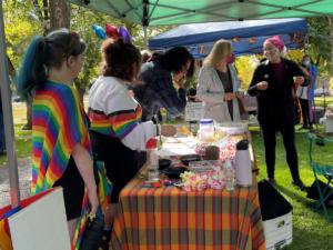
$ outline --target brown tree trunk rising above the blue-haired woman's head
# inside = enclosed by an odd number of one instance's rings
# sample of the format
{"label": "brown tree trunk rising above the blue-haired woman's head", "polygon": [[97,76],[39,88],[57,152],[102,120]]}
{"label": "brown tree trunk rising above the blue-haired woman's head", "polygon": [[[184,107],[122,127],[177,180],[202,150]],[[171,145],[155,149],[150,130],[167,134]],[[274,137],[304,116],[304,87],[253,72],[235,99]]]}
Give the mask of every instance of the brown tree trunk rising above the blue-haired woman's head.
{"label": "brown tree trunk rising above the blue-haired woman's head", "polygon": [[70,28],[71,7],[65,0],[50,0],[49,2],[51,30]]}

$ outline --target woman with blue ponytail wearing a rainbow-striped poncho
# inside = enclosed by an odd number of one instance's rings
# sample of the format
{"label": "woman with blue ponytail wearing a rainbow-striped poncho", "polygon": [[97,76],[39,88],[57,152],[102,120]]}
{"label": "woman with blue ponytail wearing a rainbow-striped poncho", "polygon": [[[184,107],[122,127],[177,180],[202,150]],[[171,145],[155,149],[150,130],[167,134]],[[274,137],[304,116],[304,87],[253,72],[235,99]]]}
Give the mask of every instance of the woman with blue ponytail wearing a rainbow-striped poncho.
{"label": "woman with blue ponytail wearing a rainbow-striped poncho", "polygon": [[85,43],[75,32],[56,30],[34,37],[17,81],[19,94],[32,98],[32,194],[62,187],[71,239],[81,214],[84,186],[91,214],[99,207],[88,121],[73,79]]}

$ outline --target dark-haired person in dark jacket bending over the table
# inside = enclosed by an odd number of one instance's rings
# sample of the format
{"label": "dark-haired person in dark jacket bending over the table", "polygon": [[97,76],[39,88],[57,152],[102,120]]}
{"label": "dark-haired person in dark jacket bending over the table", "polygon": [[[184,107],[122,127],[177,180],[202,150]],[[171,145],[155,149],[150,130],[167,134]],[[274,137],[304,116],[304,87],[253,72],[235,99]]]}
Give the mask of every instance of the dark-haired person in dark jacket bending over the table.
{"label": "dark-haired person in dark jacket bending over the table", "polygon": [[186,48],[176,47],[142,66],[143,84],[134,88],[135,99],[142,106],[142,121],[152,120],[161,108],[174,117],[183,112],[186,106],[183,83],[191,61],[192,56]]}

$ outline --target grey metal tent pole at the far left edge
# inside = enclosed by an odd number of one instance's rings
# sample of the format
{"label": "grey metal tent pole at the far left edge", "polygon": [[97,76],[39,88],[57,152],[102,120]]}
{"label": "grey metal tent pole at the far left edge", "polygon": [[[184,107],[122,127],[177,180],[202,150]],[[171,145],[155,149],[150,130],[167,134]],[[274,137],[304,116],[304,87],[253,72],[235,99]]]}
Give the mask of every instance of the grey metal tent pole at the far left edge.
{"label": "grey metal tent pole at the far left edge", "polygon": [[11,93],[9,71],[7,64],[6,52],[6,38],[4,38],[4,23],[2,1],[0,1],[0,86],[2,97],[2,112],[4,123],[6,148],[9,169],[9,182],[10,182],[10,199],[11,206],[18,207],[20,202],[20,188],[19,188],[19,174],[18,174],[18,159],[16,154],[14,144],[14,131],[12,121],[12,107],[11,107]]}

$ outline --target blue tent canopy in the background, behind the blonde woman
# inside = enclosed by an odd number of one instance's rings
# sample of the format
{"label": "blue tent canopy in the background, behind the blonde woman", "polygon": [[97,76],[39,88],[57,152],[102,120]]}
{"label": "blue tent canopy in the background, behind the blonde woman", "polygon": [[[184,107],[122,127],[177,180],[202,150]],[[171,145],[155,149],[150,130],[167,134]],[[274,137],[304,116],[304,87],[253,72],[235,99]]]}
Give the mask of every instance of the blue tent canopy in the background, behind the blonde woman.
{"label": "blue tent canopy in the background, behind the blonde woman", "polygon": [[[236,54],[259,53],[263,41],[274,34],[279,34],[287,48],[297,48],[306,30],[306,20],[302,18],[183,24],[150,39],[149,48],[161,50],[184,46],[200,58],[210,51],[216,40],[223,38],[233,41]],[[202,52],[202,46],[205,52]]]}

